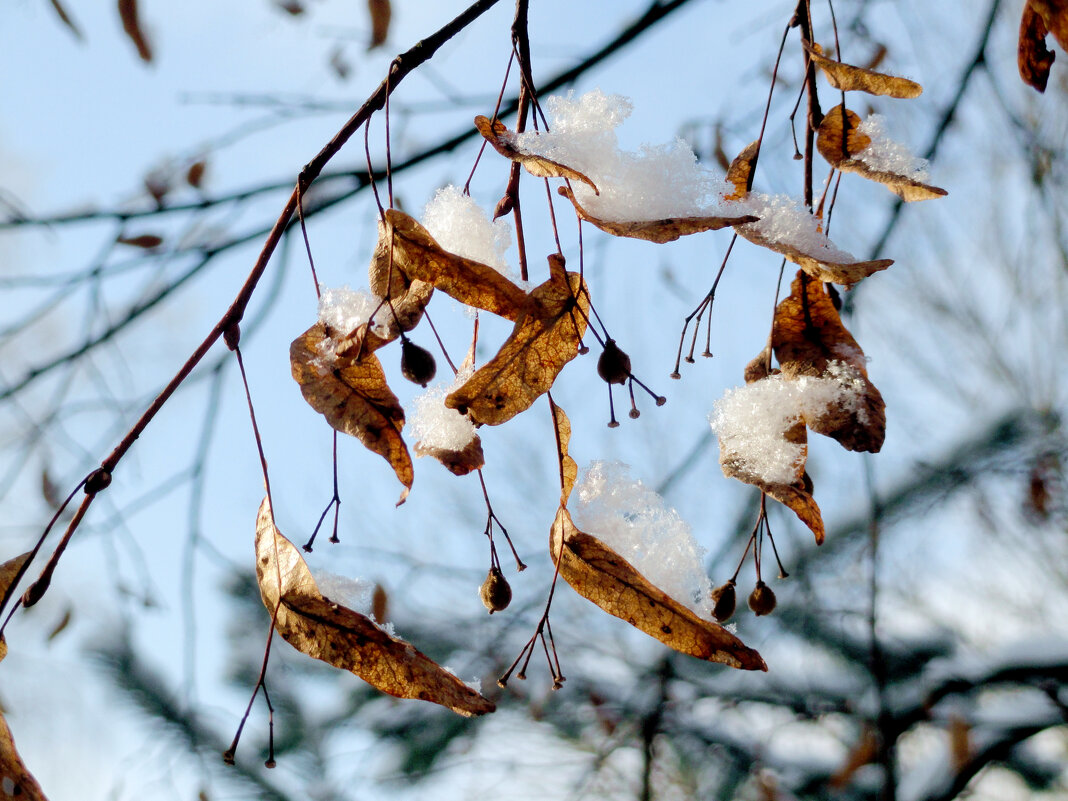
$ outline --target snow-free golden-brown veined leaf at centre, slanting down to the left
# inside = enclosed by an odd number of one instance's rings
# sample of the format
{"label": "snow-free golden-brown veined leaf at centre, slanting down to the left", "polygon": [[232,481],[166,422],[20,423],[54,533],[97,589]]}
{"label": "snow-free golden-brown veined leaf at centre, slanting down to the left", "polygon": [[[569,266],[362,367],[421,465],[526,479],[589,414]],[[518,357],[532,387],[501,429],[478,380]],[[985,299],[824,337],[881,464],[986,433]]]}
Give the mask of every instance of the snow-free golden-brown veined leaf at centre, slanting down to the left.
{"label": "snow-free golden-brown veined leaf at centre, slanting down to the left", "polygon": [[492,359],[445,397],[445,406],[475,423],[500,425],[549,391],[579,352],[590,295],[564,257],[549,256],[549,280],[534,287],[512,334]]}

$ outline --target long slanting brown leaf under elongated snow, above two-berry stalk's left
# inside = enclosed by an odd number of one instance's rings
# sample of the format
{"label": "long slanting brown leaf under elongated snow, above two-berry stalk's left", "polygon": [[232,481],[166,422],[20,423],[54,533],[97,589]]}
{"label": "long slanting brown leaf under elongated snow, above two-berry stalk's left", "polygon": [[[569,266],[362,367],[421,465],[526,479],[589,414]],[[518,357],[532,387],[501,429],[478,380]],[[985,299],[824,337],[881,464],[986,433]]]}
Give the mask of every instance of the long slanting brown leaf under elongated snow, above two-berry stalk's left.
{"label": "long slanting brown leaf under elongated snow, above two-berry stalk's left", "polygon": [[579,531],[564,506],[549,548],[560,576],[586,600],[664,645],[697,659],[766,671],[764,659],[725,628],[698,617],[597,537]]}

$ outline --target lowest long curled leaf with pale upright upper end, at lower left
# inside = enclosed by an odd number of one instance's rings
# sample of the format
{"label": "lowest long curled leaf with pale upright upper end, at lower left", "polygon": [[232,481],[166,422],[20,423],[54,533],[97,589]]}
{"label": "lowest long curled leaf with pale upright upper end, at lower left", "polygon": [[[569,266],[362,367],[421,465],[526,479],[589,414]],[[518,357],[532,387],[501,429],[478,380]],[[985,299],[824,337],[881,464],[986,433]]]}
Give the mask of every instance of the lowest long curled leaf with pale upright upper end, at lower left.
{"label": "lowest long curled leaf with pale upright upper end, at lower left", "polygon": [[471,717],[493,703],[366,615],[325,598],[297,547],[274,525],[267,499],[256,518],[256,577],[274,627],[297,650],[350,671],[377,690]]}

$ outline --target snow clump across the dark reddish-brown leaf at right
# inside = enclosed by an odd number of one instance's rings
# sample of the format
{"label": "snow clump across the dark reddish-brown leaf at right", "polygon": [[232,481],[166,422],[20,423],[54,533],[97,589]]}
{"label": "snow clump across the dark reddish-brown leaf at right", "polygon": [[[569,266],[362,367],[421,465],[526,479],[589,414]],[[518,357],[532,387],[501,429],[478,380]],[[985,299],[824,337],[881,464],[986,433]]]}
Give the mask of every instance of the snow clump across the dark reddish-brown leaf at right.
{"label": "snow clump across the dark reddish-brown leaf at right", "polygon": [[734,455],[748,473],[767,484],[792,484],[804,459],[804,445],[784,434],[804,419],[815,420],[837,407],[863,425],[864,380],[845,362],[832,361],[820,376],[787,379],[772,375],[728,389],[712,408],[709,422],[721,453]]}

